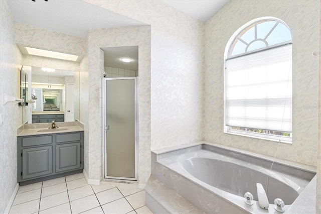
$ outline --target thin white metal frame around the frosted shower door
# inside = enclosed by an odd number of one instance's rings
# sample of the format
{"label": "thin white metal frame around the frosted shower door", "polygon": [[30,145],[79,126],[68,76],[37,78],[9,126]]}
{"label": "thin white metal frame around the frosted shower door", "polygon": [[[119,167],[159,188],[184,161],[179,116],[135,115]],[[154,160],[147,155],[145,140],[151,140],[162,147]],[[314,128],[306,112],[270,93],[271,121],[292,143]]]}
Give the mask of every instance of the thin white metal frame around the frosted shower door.
{"label": "thin white metal frame around the frosted shower door", "polygon": [[[115,177],[115,176],[107,176],[107,81],[108,80],[126,80],[126,79],[134,79],[134,91],[135,91],[135,177]],[[138,162],[138,99],[137,99],[137,94],[138,94],[138,88],[137,88],[137,77],[112,77],[112,78],[104,78],[104,97],[103,97],[103,102],[104,102],[104,108],[103,108],[103,157],[104,157],[104,178],[106,179],[111,179],[111,180],[129,180],[129,181],[137,181],[137,162]]]}

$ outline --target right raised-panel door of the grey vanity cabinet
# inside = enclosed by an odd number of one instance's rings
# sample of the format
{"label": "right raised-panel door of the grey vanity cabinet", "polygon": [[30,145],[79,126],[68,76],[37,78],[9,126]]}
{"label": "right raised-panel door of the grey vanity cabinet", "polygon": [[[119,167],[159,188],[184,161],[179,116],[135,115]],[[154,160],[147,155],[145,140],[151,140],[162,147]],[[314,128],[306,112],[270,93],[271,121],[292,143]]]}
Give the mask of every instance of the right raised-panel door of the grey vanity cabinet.
{"label": "right raised-panel door of the grey vanity cabinet", "polygon": [[80,142],[56,145],[56,172],[80,168]]}

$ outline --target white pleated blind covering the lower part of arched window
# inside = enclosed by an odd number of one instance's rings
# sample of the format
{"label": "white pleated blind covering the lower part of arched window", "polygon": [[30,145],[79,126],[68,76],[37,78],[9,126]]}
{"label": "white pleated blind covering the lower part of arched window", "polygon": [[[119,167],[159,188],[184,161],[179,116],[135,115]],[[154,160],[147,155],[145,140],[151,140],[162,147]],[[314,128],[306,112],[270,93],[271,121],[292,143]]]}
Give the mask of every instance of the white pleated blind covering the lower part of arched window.
{"label": "white pleated blind covering the lower part of arched window", "polygon": [[292,132],[292,44],[226,61],[225,125]]}

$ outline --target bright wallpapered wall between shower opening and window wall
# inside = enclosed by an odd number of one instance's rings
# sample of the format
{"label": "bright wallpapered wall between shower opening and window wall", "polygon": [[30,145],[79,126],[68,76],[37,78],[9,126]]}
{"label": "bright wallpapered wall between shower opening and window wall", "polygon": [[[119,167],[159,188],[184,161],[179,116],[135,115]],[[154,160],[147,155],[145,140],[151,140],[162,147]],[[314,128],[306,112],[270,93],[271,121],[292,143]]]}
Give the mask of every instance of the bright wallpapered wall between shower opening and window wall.
{"label": "bright wallpapered wall between shower opening and window wall", "polygon": [[151,149],[202,140],[202,23],[161,1],[85,1],[151,27]]}

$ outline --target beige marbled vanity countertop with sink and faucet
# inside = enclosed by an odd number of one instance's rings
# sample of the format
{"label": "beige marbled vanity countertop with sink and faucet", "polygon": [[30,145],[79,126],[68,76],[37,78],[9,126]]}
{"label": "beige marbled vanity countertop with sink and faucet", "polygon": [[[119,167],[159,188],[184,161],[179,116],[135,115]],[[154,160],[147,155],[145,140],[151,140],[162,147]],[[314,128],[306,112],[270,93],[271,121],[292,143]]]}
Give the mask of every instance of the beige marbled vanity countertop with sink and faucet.
{"label": "beige marbled vanity countertop with sink and faucet", "polygon": [[[25,124],[20,126],[17,129],[17,136],[84,131],[84,124],[81,122],[62,122],[62,123],[55,123],[55,124],[56,124],[56,127],[59,127],[59,128],[55,129],[54,131],[51,129],[48,129],[49,127],[52,126],[52,123]],[[46,132],[47,129],[48,129],[48,132]]]}

